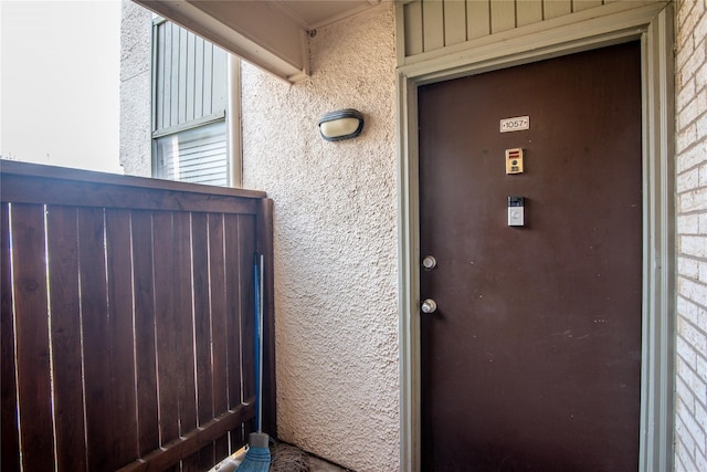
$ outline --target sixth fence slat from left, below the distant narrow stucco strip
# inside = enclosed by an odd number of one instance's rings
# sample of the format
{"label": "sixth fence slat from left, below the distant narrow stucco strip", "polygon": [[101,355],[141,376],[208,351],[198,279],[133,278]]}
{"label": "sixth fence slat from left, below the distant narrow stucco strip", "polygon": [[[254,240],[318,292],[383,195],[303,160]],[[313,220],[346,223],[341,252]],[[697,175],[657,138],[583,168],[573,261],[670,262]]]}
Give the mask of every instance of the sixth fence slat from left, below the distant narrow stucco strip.
{"label": "sixth fence slat from left, below the distant narrow stucco strip", "polygon": [[155,305],[152,300],[152,218],[149,212],[133,212],[131,240],[138,454],[145,457],[159,447]]}

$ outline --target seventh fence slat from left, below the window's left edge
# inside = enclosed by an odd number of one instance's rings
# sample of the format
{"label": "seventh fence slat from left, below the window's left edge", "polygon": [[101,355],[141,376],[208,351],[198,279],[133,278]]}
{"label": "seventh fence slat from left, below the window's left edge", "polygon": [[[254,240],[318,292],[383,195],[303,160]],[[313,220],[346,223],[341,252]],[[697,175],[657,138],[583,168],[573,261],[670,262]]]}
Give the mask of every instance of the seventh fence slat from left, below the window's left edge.
{"label": "seventh fence slat from left, below the window's left edge", "polygon": [[179,400],[175,338],[175,251],[172,213],[152,216],[155,325],[157,337],[157,386],[159,392],[160,444],[179,437]]}

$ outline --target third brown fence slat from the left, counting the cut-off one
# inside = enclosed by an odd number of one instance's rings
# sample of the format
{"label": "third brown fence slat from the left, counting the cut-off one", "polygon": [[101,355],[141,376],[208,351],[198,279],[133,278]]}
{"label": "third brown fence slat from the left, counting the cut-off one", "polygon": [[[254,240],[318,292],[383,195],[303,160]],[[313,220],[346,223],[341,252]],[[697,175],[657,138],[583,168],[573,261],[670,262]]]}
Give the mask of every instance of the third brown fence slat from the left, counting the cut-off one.
{"label": "third brown fence slat from the left, counting the cut-off one", "polygon": [[57,470],[81,471],[86,469],[86,430],[83,421],[76,209],[48,207],[46,235]]}

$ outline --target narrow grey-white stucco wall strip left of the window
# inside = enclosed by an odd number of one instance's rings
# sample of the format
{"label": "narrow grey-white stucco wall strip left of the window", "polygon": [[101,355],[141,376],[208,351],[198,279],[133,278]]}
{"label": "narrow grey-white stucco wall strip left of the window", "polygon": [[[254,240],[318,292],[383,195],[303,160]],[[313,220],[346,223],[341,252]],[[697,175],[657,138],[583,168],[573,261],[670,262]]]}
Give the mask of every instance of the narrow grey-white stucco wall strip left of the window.
{"label": "narrow grey-white stucco wall strip left of the window", "polygon": [[123,0],[120,21],[120,165],[151,176],[150,63],[152,13]]}

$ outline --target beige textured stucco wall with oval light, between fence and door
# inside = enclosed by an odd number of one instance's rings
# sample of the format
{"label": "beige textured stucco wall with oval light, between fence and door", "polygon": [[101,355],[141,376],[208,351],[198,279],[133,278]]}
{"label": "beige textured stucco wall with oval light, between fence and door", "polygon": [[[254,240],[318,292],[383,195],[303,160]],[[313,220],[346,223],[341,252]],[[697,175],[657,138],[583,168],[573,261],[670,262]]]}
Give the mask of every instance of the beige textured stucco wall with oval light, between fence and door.
{"label": "beige textured stucco wall with oval light, between fence and door", "polygon": [[[365,471],[399,468],[394,12],[310,39],[289,85],[242,65],[243,185],[275,201],[279,437]],[[317,119],[352,107],[357,139]]]}

